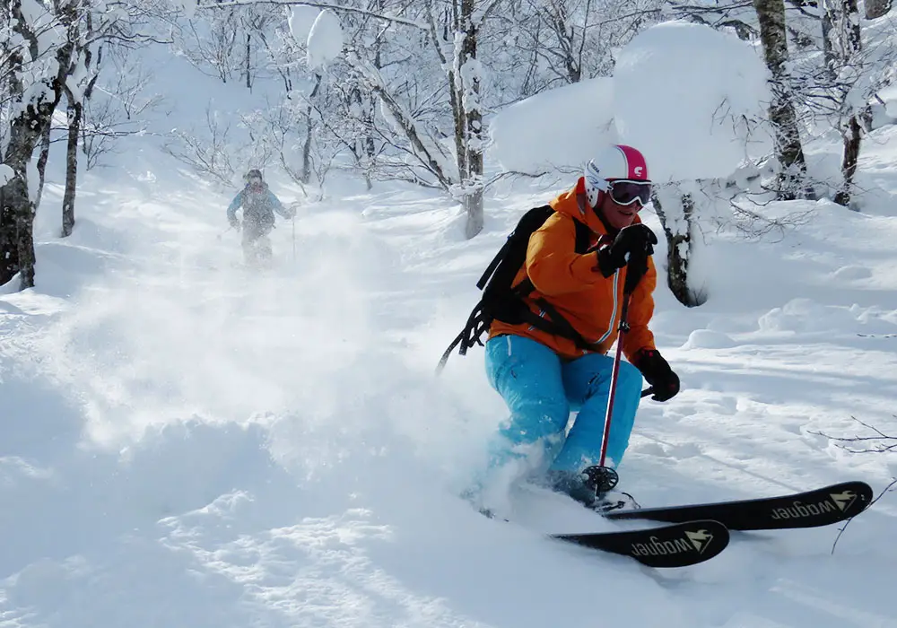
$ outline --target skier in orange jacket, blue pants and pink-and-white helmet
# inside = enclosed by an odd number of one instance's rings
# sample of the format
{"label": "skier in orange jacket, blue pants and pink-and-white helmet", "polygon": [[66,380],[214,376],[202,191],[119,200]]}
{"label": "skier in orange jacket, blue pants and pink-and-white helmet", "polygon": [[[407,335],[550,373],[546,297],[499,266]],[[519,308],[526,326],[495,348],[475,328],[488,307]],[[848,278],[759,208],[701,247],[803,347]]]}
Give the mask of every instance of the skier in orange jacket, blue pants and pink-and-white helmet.
{"label": "skier in orange jacket, blue pants and pink-and-white helmet", "polygon": [[[482,497],[490,477],[523,475],[544,478],[591,507],[625,505],[615,502],[619,493],[613,499],[602,493],[593,473],[609,469],[615,477],[639,407],[642,376],[656,401],[679,392],[679,378],[649,329],[657,283],[650,254],[658,240],[638,215],[651,195],[645,159],[631,146],[615,145],[589,161],[583,174],[551,201],[553,214],[530,236],[526,261],[512,283],[518,286],[514,302],[494,307],[505,314],[496,314],[489,328],[486,372],[510,417],[492,442],[490,469],[471,497]],[[581,224],[588,227],[584,252],[576,250]],[[524,284],[528,292],[521,292]],[[633,284],[622,346],[629,362],[619,364],[605,465],[597,467],[614,366],[606,353],[617,340],[624,285]],[[579,412],[566,432],[571,410]]]}

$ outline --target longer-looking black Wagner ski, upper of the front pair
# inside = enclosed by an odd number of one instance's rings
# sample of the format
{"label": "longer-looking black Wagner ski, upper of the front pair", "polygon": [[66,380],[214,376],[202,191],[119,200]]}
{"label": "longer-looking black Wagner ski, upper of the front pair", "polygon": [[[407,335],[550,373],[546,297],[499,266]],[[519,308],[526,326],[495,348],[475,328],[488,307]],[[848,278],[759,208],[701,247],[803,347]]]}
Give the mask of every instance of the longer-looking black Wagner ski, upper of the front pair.
{"label": "longer-looking black Wagner ski, upper of the front pair", "polygon": [[638,510],[612,510],[607,519],[647,519],[680,523],[713,519],[732,530],[816,528],[856,517],[872,502],[865,482],[844,482],[806,493],[735,502],[711,502]]}

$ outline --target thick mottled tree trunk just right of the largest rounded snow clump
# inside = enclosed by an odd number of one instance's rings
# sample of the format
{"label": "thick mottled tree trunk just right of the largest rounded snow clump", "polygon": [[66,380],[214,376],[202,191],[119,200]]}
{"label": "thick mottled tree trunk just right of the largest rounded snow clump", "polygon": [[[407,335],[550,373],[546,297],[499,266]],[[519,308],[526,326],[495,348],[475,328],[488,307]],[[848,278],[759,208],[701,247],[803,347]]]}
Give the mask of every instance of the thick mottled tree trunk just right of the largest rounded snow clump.
{"label": "thick mottled tree trunk just right of the largest rounded snow clump", "polygon": [[760,39],[766,66],[772,74],[770,121],[775,130],[779,158],[779,199],[811,196],[804,187],[806,160],[797,126],[797,112],[788,91],[788,37],[784,0],[753,0],[760,22]]}

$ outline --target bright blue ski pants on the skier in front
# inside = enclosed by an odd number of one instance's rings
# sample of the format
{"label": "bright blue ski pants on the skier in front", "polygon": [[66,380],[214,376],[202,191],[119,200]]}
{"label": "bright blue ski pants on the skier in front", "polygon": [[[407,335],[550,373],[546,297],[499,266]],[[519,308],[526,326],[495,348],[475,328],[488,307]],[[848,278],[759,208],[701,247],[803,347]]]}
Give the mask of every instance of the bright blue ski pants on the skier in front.
{"label": "bright blue ski pants on the skier in front", "polygon": [[[577,472],[597,465],[605,429],[614,358],[589,353],[563,361],[523,336],[497,336],[486,343],[486,372],[510,410],[492,442],[490,467],[538,454],[532,471]],[[629,445],[641,399],[641,373],[620,362],[605,465],[616,467]],[[566,433],[570,411],[579,411]],[[541,468],[539,468],[541,467]]]}

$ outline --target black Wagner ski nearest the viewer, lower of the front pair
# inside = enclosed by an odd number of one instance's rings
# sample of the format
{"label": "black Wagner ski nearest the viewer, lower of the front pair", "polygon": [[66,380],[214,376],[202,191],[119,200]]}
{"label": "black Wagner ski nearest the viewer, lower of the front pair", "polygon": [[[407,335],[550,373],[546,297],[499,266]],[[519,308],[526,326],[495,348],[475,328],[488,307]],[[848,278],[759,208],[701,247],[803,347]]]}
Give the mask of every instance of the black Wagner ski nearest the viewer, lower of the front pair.
{"label": "black Wagner ski nearest the viewer, lower of the front pair", "polygon": [[726,526],[711,520],[684,521],[641,530],[551,536],[603,552],[630,556],[649,567],[687,567],[703,563],[726,549],[729,541]]}

